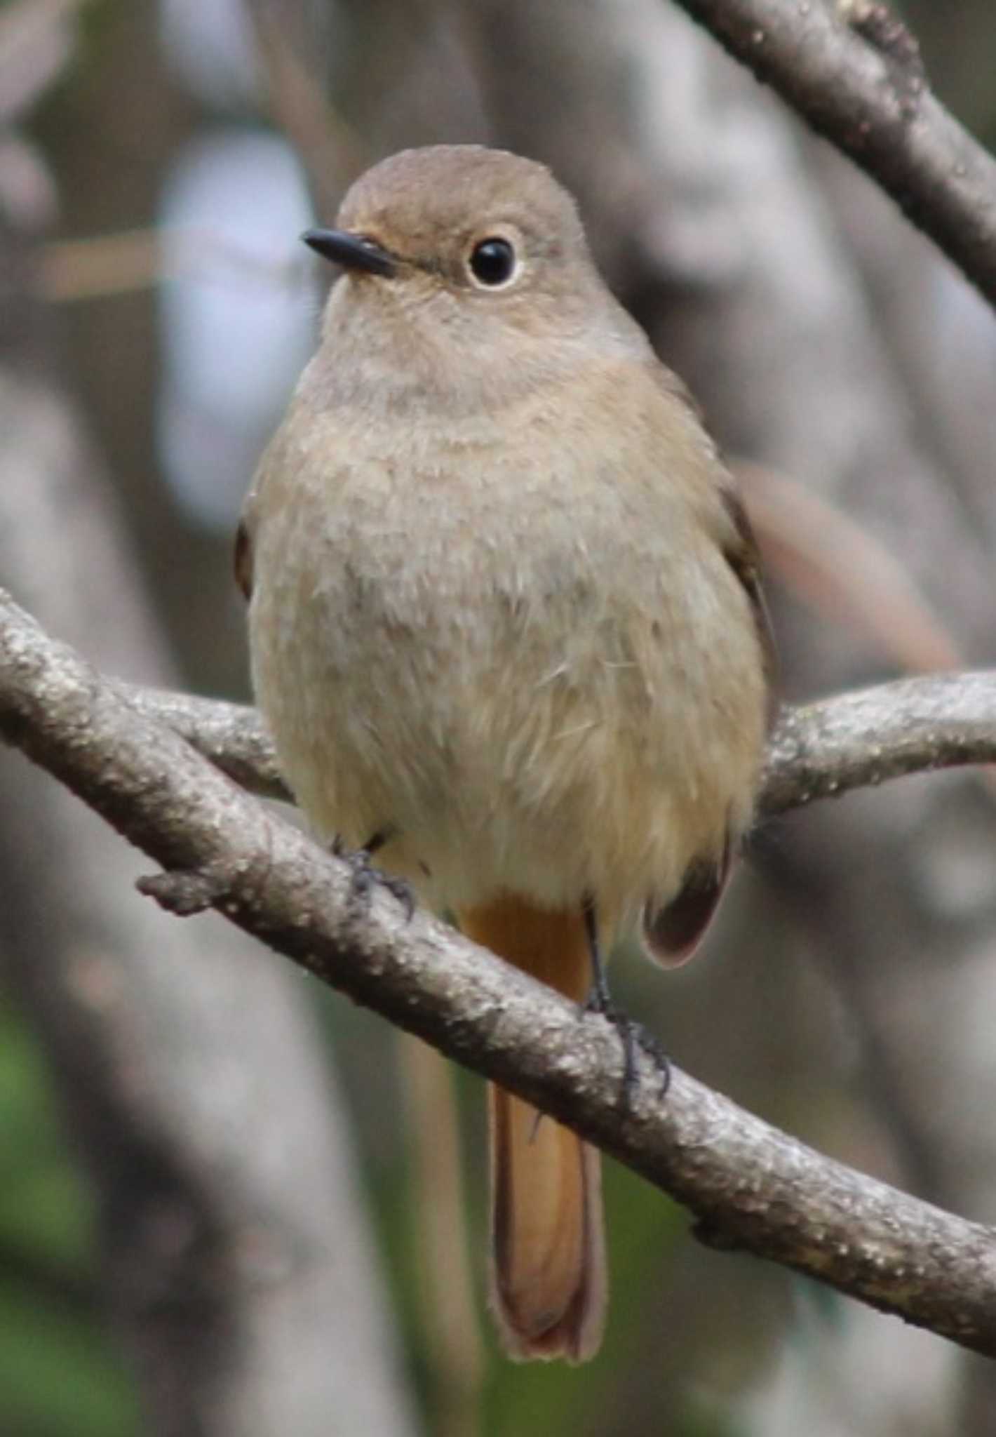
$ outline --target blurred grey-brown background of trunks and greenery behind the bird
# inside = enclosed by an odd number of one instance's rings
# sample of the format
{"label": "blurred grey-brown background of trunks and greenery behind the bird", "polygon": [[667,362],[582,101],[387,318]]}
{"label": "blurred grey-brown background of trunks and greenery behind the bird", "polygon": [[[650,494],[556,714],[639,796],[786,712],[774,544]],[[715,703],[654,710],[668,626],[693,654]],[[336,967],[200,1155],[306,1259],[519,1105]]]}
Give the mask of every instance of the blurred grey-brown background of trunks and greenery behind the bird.
{"label": "blurred grey-brown background of trunks and greenery behind the bird", "polygon": [[[897,9],[900,9],[897,6]],[[996,138],[990,0],[908,0]],[[230,546],[398,148],[550,164],[743,476],[789,700],[996,660],[996,325],[667,0],[0,4],[0,582],[98,667],[247,698]],[[756,835],[707,951],[617,997],[842,1161],[996,1221],[996,810],[907,779]],[[481,1085],[0,756],[4,1437],[966,1437],[992,1364],[694,1242],[607,1164],[584,1369],[483,1313]],[[463,1190],[463,1193],[461,1193]]]}

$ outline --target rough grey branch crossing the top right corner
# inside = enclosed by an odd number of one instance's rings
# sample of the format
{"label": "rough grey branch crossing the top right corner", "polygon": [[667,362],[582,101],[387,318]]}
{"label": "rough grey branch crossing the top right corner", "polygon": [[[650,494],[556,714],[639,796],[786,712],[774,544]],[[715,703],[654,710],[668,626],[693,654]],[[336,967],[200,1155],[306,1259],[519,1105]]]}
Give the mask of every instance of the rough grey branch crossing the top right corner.
{"label": "rough grey branch crossing the top right corner", "polygon": [[996,303],[996,161],[927,86],[877,0],[678,0],[878,181]]}

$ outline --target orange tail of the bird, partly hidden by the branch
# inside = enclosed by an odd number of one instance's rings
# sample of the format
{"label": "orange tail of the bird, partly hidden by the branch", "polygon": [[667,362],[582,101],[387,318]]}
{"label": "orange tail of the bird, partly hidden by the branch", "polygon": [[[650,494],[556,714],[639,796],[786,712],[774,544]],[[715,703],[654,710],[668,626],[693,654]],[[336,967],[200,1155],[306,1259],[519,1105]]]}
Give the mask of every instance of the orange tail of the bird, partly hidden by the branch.
{"label": "orange tail of the bird, partly hidden by the branch", "polygon": [[[463,931],[582,1002],[591,981],[581,911],[503,897],[460,914]],[[510,1357],[582,1362],[607,1300],[601,1154],[568,1128],[490,1089],[492,1305]]]}

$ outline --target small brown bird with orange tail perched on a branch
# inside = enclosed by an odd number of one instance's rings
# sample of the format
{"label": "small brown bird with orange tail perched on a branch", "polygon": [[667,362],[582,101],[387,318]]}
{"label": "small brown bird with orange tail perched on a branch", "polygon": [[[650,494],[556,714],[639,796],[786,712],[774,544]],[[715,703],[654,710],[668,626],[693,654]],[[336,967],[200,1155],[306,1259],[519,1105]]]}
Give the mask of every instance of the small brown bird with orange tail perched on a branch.
{"label": "small brown bird with orange tail perched on a branch", "polygon": [[[246,503],[259,704],[315,829],[584,1002],[598,944],[694,950],[750,822],[766,631],[732,479],[539,164],[365,174],[318,354]],[[492,1089],[513,1357],[599,1344],[598,1154]]]}

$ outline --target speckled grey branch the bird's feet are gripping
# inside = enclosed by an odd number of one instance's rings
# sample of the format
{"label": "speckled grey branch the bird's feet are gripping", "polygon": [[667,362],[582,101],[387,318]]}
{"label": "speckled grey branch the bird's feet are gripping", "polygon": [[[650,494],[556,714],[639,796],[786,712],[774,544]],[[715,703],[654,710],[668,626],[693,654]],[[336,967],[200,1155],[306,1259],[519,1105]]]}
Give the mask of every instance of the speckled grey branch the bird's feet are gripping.
{"label": "speckled grey branch the bird's feet are gripping", "polygon": [[0,591],[0,734],[167,869],[147,890],[233,923],[451,1058],[569,1122],[671,1193],[700,1234],[796,1267],[996,1355],[996,1233],[824,1158],[641,1056],[619,1104],[615,1030],[260,808]]}

